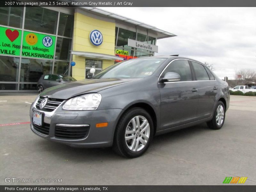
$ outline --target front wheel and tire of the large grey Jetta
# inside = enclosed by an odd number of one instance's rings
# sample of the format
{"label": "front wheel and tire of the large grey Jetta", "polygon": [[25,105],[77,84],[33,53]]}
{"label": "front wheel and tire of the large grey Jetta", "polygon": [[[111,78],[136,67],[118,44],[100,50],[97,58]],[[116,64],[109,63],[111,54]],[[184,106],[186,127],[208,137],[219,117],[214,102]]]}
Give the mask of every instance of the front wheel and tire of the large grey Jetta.
{"label": "front wheel and tire of the large grey Jetta", "polygon": [[[137,122],[141,127],[137,127]],[[124,157],[139,157],[148,149],[153,133],[153,121],[148,112],[131,108],[124,112],[116,126],[113,150]]]}

